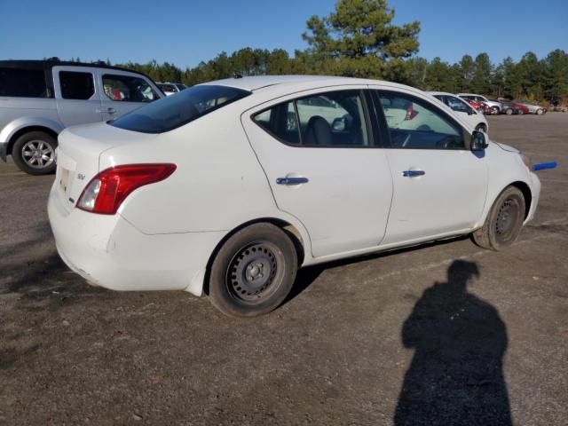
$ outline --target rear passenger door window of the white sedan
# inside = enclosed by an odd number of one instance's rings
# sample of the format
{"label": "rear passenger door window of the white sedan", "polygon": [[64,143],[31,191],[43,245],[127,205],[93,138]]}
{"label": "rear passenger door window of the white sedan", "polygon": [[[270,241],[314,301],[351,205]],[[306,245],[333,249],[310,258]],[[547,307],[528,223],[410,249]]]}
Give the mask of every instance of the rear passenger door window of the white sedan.
{"label": "rear passenger door window of the white sedan", "polygon": [[272,106],[253,120],[296,146],[369,146],[365,100],[360,91],[332,91]]}

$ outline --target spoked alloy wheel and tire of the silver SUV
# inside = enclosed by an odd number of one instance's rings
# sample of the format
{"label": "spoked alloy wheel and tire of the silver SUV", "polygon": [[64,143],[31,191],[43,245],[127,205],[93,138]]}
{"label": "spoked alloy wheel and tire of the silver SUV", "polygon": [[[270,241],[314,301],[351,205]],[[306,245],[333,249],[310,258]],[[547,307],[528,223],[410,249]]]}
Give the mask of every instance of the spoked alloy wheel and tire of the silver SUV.
{"label": "spoked alloy wheel and tire of the silver SUV", "polygon": [[29,175],[49,175],[55,171],[57,138],[44,131],[29,131],[16,139],[12,158]]}

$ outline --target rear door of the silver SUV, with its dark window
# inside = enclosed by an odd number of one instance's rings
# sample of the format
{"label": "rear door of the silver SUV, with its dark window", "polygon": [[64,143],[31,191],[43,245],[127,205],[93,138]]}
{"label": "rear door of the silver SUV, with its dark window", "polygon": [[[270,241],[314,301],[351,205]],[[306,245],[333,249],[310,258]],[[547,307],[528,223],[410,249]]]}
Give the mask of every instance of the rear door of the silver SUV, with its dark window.
{"label": "rear door of the silver SUV, with its dark window", "polygon": [[52,74],[59,120],[65,127],[103,120],[96,68],[53,67]]}

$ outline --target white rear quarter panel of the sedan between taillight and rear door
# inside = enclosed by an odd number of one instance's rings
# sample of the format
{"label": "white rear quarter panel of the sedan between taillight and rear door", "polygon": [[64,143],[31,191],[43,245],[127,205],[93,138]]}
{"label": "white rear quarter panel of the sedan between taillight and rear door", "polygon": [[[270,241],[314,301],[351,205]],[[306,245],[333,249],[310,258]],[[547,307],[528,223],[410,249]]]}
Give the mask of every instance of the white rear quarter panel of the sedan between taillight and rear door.
{"label": "white rear quarter panel of the sedan between taillight and rear door", "polygon": [[277,209],[240,115],[240,106],[225,106],[152,141],[101,154],[100,170],[136,162],[177,164],[165,181],[131,193],[119,209],[122,217],[148,234],[228,232],[263,217],[302,227]]}

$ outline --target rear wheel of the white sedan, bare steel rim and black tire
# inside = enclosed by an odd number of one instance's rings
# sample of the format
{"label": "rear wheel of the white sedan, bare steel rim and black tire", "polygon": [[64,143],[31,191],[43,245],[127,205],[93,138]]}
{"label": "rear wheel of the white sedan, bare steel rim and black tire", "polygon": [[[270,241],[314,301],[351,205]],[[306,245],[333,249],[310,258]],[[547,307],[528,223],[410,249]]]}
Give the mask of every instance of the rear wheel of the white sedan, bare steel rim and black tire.
{"label": "rear wheel of the white sedan, bare steel rim and black tire", "polygon": [[234,317],[271,312],[292,289],[297,264],[294,243],[279,227],[262,223],[241,229],[211,265],[211,303]]}

